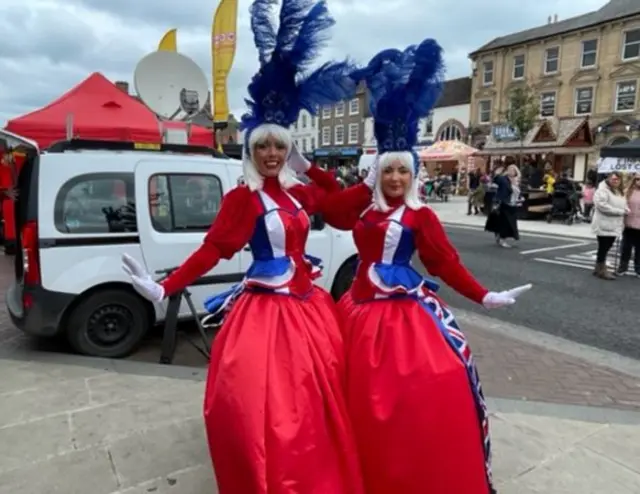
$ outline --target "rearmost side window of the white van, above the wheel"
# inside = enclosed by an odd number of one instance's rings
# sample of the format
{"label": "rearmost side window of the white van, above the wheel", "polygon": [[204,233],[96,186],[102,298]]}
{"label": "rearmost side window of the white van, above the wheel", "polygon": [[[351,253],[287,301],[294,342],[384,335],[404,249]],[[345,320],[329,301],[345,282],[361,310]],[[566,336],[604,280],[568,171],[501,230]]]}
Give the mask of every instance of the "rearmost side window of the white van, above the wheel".
{"label": "rearmost side window of the white van, above the wheel", "polygon": [[133,174],[89,173],[66,182],[54,204],[62,233],[137,232]]}

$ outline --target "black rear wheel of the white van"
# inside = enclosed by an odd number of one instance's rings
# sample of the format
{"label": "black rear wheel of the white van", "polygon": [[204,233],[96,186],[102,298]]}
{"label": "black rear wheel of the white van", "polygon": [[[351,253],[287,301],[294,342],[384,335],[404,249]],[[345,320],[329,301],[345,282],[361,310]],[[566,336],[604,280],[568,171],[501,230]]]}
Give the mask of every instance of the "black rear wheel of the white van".
{"label": "black rear wheel of the white van", "polygon": [[137,348],[148,327],[149,314],[138,297],[124,290],[104,290],[73,309],[67,339],[78,353],[120,358]]}

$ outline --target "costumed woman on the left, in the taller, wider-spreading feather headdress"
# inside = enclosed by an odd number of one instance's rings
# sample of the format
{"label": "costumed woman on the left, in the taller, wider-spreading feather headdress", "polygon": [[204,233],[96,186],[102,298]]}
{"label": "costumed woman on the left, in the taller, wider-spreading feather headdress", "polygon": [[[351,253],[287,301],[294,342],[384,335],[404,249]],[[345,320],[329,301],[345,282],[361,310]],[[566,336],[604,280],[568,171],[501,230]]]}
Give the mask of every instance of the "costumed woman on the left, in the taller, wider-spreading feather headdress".
{"label": "costumed woman on the left, in the taller, wider-spreading feather headdress", "polygon": [[[362,494],[335,305],[313,284],[319,260],[305,255],[309,215],[323,189],[338,185],[300,156],[287,130],[301,108],[353,97],[353,69],[329,63],[301,76],[332,24],[326,4],[283,0],[278,32],[271,5],[251,8],[261,69],[242,122],[246,185],[224,197],[202,246],[162,283],[131,258],[125,270],[141,294],[160,302],[248,244],[254,262],[244,281],[206,303],[212,313],[225,311],[204,399],[219,492]],[[291,169],[314,184],[302,185]]]}

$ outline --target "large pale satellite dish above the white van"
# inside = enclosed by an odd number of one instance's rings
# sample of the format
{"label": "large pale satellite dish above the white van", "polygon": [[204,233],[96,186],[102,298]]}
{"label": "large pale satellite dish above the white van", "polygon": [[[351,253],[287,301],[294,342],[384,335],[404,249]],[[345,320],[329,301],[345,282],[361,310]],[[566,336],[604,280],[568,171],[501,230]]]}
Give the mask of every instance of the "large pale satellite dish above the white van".
{"label": "large pale satellite dish above the white van", "polygon": [[161,119],[191,120],[209,98],[204,72],[180,53],[150,53],[138,62],[133,78],[142,102]]}

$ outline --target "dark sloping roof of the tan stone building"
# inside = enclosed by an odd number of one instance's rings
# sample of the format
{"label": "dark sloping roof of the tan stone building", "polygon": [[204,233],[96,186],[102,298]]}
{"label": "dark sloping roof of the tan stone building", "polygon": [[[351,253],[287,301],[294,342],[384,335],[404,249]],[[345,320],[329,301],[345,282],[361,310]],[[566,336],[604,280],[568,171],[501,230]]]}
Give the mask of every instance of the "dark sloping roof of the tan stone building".
{"label": "dark sloping roof of the tan stone building", "polygon": [[640,2],[638,0],[610,0],[604,7],[594,12],[501,36],[481,46],[470,53],[469,56],[474,57],[486,51],[521,45],[539,39],[566,34],[571,31],[587,29],[599,24],[605,24],[638,14],[640,14]]}

